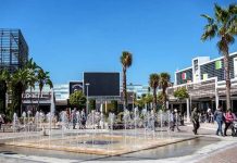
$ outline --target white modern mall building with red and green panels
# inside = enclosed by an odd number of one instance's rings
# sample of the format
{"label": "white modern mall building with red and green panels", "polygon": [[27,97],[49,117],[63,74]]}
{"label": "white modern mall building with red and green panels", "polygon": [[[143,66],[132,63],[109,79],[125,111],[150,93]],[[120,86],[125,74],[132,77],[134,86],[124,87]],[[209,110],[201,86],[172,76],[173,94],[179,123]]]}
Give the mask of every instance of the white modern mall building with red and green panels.
{"label": "white modern mall building with red and green panels", "polygon": [[[230,104],[237,112],[237,52],[229,54],[230,67]],[[179,101],[173,93],[179,87],[186,87],[189,99]],[[213,111],[219,104],[226,110],[226,86],[223,57],[210,60],[209,57],[198,57],[191,60],[191,66],[175,72],[175,84],[167,89],[171,108],[187,108],[183,112],[190,112],[190,109],[198,108],[205,111],[208,108]]]}

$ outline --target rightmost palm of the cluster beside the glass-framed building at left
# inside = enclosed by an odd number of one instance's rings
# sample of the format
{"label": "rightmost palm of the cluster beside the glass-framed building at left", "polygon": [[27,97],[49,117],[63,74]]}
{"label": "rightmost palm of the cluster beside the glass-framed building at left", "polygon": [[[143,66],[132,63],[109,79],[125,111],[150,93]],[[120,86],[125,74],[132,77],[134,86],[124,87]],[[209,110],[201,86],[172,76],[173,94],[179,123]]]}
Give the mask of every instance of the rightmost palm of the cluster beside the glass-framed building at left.
{"label": "rightmost palm of the cluster beside the glass-framed building at left", "polygon": [[37,72],[37,82],[39,84],[39,96],[38,96],[38,109],[39,109],[39,98],[42,93],[42,88],[45,85],[49,85],[50,89],[53,87],[52,82],[49,76],[49,72],[45,72],[42,68],[39,68]]}

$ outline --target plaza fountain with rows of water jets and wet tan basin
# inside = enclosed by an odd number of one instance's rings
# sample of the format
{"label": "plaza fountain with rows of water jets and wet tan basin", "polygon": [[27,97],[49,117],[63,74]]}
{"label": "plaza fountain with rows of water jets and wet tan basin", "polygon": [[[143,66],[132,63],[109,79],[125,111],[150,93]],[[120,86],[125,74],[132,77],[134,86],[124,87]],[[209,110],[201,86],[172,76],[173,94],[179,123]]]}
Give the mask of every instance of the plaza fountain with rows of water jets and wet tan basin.
{"label": "plaza fountain with rows of water jets and wet tan basin", "polygon": [[[27,115],[29,117],[29,114]],[[117,155],[183,140],[182,138],[170,138],[171,136],[167,135],[163,136],[162,131],[166,127],[166,121],[167,129],[171,125],[169,112],[160,111],[155,113],[152,110],[147,111],[147,109],[142,109],[141,113],[139,113],[138,108],[135,108],[132,113],[125,110],[123,113],[124,128],[122,130],[117,130],[117,127],[114,127],[117,123],[114,113],[109,113],[107,129],[103,129],[105,118],[100,112],[91,111],[87,117],[84,111],[76,110],[71,115],[66,111],[62,111],[59,115],[58,125],[61,126],[60,129],[51,127],[53,114],[49,112],[46,116],[47,128],[49,129],[48,136],[40,137],[39,130],[36,131],[37,137],[28,137],[25,141],[17,139],[13,143],[8,142],[8,145],[99,155]],[[25,114],[23,114],[23,120],[24,116]],[[45,114],[41,111],[36,112],[36,128],[46,126],[43,118]],[[85,120],[86,123],[84,122]],[[14,114],[13,131],[15,131],[16,122],[17,116]],[[155,126],[157,122],[158,126]],[[160,129],[155,129],[155,127]],[[155,130],[157,133],[162,133],[162,136],[155,135]],[[33,135],[30,129],[27,131],[28,135]]]}

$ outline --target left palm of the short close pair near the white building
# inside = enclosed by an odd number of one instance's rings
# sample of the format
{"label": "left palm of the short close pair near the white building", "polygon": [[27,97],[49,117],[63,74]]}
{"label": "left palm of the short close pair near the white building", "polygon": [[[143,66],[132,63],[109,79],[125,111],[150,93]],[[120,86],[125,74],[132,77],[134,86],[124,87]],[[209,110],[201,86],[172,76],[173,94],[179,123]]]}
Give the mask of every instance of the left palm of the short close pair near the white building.
{"label": "left palm of the short close pair near the white building", "polygon": [[149,85],[150,85],[150,87],[153,90],[153,102],[152,102],[153,110],[157,109],[157,103],[158,103],[158,100],[157,100],[157,88],[159,86],[159,83],[160,83],[159,74],[150,74]]}

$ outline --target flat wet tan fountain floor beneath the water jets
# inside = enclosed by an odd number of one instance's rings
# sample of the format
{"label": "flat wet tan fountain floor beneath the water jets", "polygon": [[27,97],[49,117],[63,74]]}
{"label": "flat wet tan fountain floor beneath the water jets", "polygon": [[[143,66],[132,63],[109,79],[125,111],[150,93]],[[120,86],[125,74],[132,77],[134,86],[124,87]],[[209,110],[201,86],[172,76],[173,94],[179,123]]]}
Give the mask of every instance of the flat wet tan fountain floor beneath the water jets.
{"label": "flat wet tan fountain floor beneath the water jets", "polygon": [[123,135],[85,134],[77,136],[66,136],[63,138],[52,137],[51,139],[42,138],[40,140],[36,138],[29,140],[16,140],[14,142],[5,142],[5,145],[97,155],[121,155],[171,143],[177,143],[195,138],[198,137],[189,136],[185,138],[144,138],[138,136],[124,137]]}

